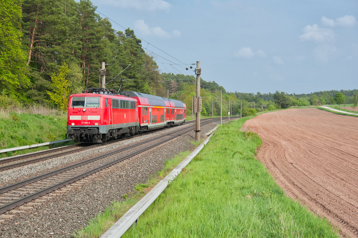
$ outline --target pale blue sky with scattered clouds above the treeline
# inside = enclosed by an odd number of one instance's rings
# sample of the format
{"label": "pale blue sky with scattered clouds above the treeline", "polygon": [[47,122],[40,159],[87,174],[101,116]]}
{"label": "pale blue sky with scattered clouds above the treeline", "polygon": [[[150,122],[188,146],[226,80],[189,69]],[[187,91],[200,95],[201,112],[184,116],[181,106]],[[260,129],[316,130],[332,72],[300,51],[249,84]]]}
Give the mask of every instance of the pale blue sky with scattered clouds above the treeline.
{"label": "pale blue sky with scattered clouds above the treeline", "polygon": [[201,77],[229,92],[358,88],[357,0],[92,3],[145,40],[161,72],[194,75],[182,63],[200,61]]}

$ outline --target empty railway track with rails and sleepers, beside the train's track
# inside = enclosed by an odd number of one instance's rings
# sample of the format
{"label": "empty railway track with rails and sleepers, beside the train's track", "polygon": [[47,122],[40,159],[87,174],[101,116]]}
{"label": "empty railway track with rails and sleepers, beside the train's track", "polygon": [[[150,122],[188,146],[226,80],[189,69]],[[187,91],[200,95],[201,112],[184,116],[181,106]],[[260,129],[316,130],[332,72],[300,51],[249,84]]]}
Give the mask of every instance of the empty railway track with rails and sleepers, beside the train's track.
{"label": "empty railway track with rails and sleepers, beside the train's track", "polygon": [[[202,125],[211,123],[215,120],[218,120],[218,118],[208,118],[203,120]],[[62,188],[65,185],[74,183],[77,180],[85,178],[86,176],[94,174],[192,130],[193,127],[188,126],[165,135],[154,137],[153,139],[149,139],[144,142],[139,142],[135,145],[127,146],[104,155],[78,162],[77,164],[71,166],[57,169],[49,173],[38,175],[0,188],[0,214]]]}

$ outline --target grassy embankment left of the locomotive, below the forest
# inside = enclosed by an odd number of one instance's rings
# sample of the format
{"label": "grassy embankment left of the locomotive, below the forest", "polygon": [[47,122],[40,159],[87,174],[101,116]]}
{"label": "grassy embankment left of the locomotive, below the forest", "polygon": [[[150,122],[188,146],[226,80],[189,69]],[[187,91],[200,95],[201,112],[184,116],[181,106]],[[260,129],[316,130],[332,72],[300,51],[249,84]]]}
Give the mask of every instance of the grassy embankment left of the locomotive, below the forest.
{"label": "grassy embankment left of the locomotive, below the forest", "polygon": [[[67,115],[46,107],[0,111],[0,149],[65,139]],[[64,142],[0,153],[0,158],[72,144]]]}

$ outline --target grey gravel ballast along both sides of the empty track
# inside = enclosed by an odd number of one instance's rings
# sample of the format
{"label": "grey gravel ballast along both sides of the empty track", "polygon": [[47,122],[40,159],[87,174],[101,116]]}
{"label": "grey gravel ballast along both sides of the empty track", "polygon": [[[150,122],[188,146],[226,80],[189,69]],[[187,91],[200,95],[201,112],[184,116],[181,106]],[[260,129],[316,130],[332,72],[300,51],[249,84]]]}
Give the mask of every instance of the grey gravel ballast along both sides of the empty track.
{"label": "grey gravel ballast along both sides of the empty track", "polygon": [[[202,126],[200,133],[202,138],[215,126],[217,123]],[[57,167],[73,164],[86,157],[93,157],[100,154],[100,151],[109,152],[171,130],[175,128],[81,151],[76,155],[41,161],[36,165],[26,165],[26,171],[21,167],[1,171],[1,186],[5,181],[6,184],[14,183],[25,177],[33,177]],[[103,212],[113,200],[124,200],[122,195],[132,191],[136,184],[145,183],[150,175],[161,170],[165,159],[193,149],[190,142],[193,140],[195,140],[194,131],[166,142],[159,148],[151,149],[145,155],[132,157],[110,169],[102,170],[98,172],[99,176],[93,178],[89,176],[76,184],[36,199],[19,210],[0,215],[0,237],[71,237],[73,232],[88,223],[96,214]]]}

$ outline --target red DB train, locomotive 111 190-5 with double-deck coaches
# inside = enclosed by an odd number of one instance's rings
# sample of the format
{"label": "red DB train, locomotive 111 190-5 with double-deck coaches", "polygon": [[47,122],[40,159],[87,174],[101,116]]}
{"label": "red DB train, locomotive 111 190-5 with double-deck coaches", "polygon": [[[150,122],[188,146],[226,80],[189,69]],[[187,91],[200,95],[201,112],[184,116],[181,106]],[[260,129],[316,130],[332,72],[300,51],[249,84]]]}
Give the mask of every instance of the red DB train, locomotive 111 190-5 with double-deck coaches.
{"label": "red DB train, locomotive 111 190-5 with double-deck coaches", "polygon": [[69,97],[66,137],[77,142],[104,142],[182,124],[186,118],[185,103],[179,100],[89,88]]}

